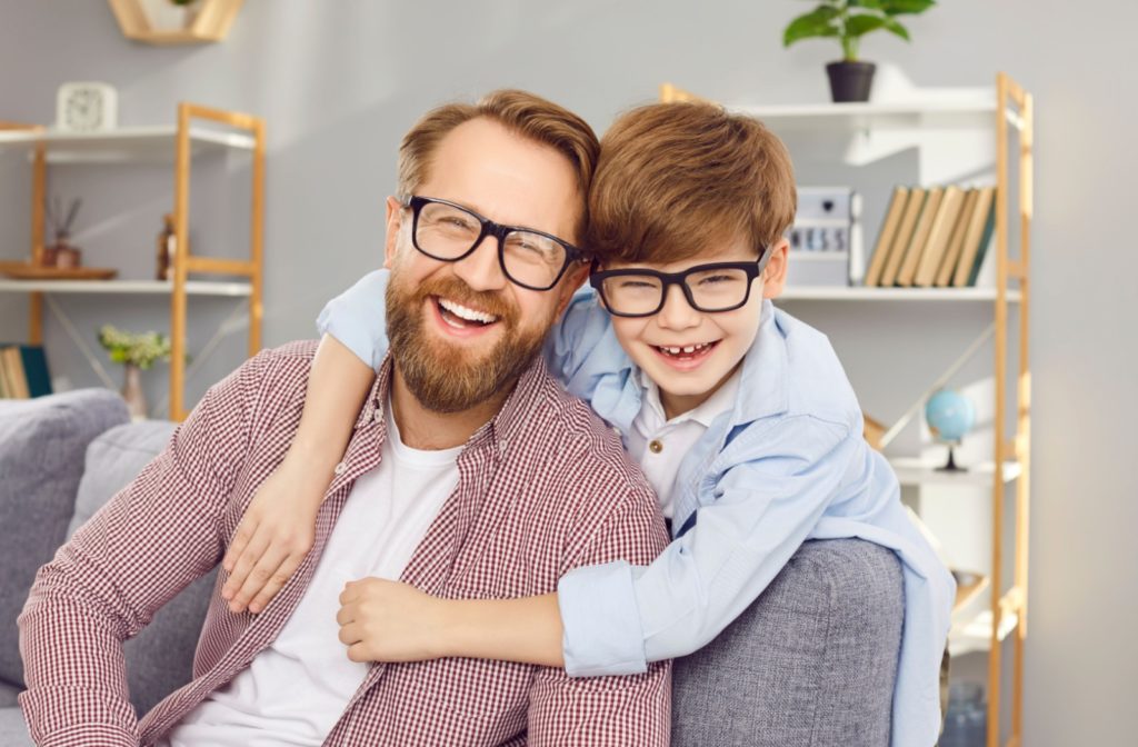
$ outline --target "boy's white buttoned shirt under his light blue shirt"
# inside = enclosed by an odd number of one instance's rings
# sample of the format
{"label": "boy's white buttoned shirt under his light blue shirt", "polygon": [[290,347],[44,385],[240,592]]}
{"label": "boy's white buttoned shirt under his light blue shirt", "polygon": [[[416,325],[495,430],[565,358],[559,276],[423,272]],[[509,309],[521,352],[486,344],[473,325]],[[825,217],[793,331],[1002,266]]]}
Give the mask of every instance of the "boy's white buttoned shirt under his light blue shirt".
{"label": "boy's white buttoned shirt under his light blue shirt", "polygon": [[703,404],[671,420],[663,413],[660,388],[655,381],[644,371],[637,371],[637,376],[644,389],[644,399],[626,438],[628,453],[640,463],[644,475],[655,489],[660,511],[665,518],[671,519],[675,512],[673,489],[676,485],[679,463],[687,454],[687,450],[711,427],[711,421],[719,413],[727,412],[734,407],[735,395],[739,393],[740,372],[735,371]]}

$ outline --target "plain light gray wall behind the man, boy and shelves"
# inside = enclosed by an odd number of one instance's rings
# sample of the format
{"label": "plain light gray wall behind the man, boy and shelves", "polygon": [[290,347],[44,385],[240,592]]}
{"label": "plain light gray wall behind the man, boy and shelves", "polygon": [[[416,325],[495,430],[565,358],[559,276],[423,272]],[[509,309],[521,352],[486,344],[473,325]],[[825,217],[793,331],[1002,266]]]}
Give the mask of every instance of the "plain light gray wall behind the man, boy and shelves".
{"label": "plain light gray wall behind the man, boy and shelves", "polygon": [[[277,345],[312,336],[322,303],[378,263],[395,148],[429,106],[521,87],[603,130],[617,112],[652,100],[662,81],[724,101],[824,100],[820,67],[836,47],[781,47],[782,27],[803,9],[786,0],[249,0],[224,43],[163,49],[126,41],[102,2],[0,0],[0,118],[50,122],[56,88],[69,80],[114,84],[122,124],[170,122],[179,100],[264,116],[264,340]],[[1124,0],[946,0],[912,22],[912,46],[875,36],[863,49],[867,59],[899,64],[921,85],[990,85],[1003,69],[1036,96],[1025,709],[1025,742],[1033,746],[1133,739],[1124,714],[1138,666],[1138,478],[1128,467],[1138,426],[1129,386],[1138,368],[1129,292],[1138,274],[1129,235],[1138,166],[1129,51],[1136,25],[1138,6]],[[241,173],[240,164],[220,167]],[[25,178],[25,164],[0,157],[3,258],[27,245]],[[51,179],[55,189],[88,200],[77,238],[91,264],[137,264],[135,276],[149,274],[152,237],[171,203],[167,172],[60,170]],[[244,191],[226,197],[209,189],[196,192],[203,244],[236,230],[246,200]],[[102,320],[165,323],[162,302],[114,312],[67,303],[84,333]],[[0,296],[0,338],[24,334],[24,306]],[[208,302],[191,309],[193,347],[228,309]],[[242,345],[223,346],[191,383],[191,401],[240,360]],[[98,384],[55,327],[48,346],[57,374]],[[867,362],[856,351],[842,353],[859,386],[856,372]],[[151,377],[151,397],[160,389],[160,377]]]}

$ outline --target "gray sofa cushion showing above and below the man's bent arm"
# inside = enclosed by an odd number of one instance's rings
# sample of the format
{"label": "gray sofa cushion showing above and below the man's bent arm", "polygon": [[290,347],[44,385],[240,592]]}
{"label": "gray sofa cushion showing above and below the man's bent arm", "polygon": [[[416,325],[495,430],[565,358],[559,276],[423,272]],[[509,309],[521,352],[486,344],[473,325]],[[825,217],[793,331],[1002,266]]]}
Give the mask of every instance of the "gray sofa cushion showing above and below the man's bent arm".
{"label": "gray sofa cushion showing above and below the man's bent arm", "polygon": [[[165,449],[175,427],[163,420],[127,424],[112,428],[91,443],[68,536]],[[123,647],[131,703],[139,716],[190,681],[193,652],[216,576],[213,570],[183,589]]]}

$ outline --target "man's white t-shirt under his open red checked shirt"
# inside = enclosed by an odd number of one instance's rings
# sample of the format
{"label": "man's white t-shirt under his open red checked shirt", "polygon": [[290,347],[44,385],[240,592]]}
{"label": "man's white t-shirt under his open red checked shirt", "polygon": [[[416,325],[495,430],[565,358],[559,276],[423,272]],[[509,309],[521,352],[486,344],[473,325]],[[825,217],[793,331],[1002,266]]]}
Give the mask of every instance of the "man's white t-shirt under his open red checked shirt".
{"label": "man's white t-shirt under his open red checked shirt", "polygon": [[382,460],[353,486],[288,623],[249,668],[190,712],[163,747],[316,746],[339,721],[370,667],[348,660],[338,638],[344,584],[398,578],[459,484],[461,446],[411,449],[399,438],[390,403],[386,412]]}

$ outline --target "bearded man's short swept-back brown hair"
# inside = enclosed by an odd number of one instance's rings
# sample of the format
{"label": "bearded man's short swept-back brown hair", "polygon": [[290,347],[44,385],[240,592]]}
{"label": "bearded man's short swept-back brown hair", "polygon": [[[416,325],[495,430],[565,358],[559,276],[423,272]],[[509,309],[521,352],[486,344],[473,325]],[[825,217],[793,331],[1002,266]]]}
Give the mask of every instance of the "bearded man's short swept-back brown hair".
{"label": "bearded man's short swept-back brown hair", "polygon": [[420,117],[399,145],[398,194],[413,195],[427,180],[431,156],[443,138],[460,124],[478,117],[493,120],[516,134],[550,146],[569,159],[577,174],[577,188],[583,202],[577,225],[577,236],[583,236],[587,221],[584,202],[601,143],[583,118],[527,91],[492,91],[477,104],[446,104]]}

